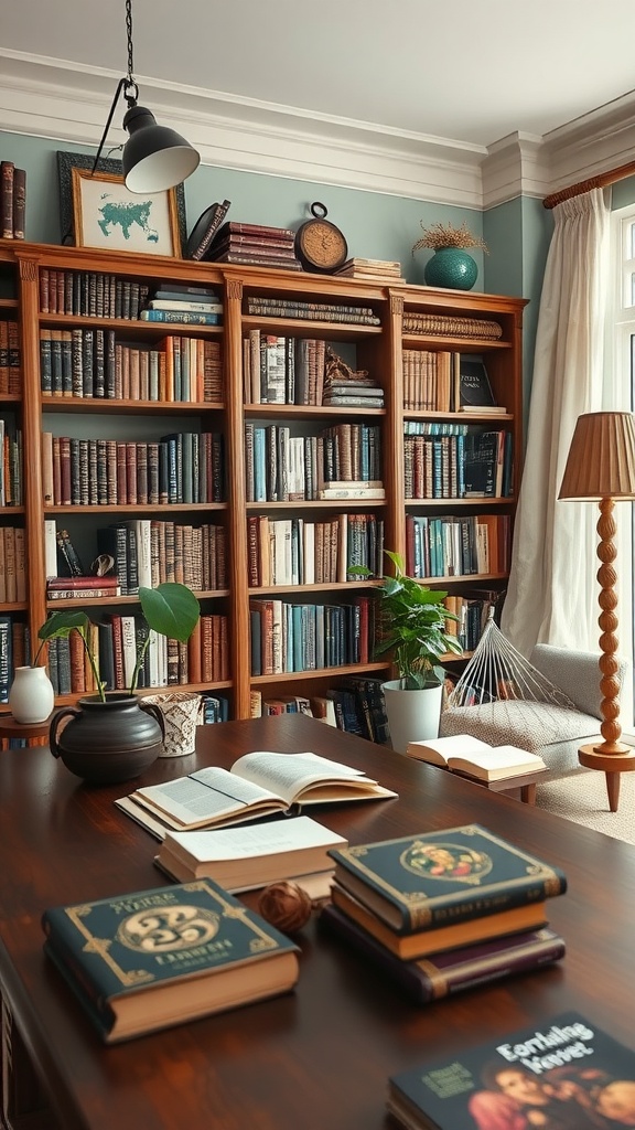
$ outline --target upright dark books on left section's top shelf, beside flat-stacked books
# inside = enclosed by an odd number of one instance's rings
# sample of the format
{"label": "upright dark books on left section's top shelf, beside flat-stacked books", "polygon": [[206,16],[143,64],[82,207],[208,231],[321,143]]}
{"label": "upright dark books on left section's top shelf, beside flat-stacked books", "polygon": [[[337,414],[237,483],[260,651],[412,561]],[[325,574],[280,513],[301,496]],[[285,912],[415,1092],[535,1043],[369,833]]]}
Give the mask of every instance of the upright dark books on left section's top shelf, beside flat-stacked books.
{"label": "upright dark books on left section's top shelf, beside flat-stacked books", "polygon": [[40,312],[76,318],[108,318],[136,322],[149,288],[102,271],[40,268]]}

